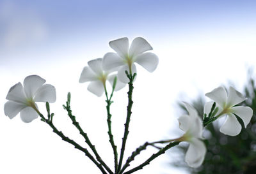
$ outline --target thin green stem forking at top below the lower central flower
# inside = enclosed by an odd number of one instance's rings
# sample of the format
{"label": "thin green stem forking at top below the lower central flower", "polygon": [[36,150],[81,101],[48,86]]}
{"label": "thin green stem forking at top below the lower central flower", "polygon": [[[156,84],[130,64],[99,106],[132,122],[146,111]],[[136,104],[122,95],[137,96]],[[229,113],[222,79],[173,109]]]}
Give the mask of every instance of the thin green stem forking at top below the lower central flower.
{"label": "thin green stem forking at top below the lower central flower", "polygon": [[113,149],[113,153],[114,153],[114,160],[115,160],[115,173],[117,171],[117,168],[118,168],[118,154],[117,154],[117,147],[115,145],[115,141],[114,141],[114,136],[112,134],[112,131],[111,131],[111,113],[110,113],[110,105],[111,103],[113,103],[113,101],[111,101],[111,98],[113,96],[113,92],[115,90],[115,87],[113,87],[113,90],[111,92],[111,95],[110,95],[110,98],[108,98],[108,92],[107,92],[107,89],[106,89],[106,86],[104,86],[104,89],[105,89],[105,94],[106,94],[106,102],[107,102],[107,112],[108,112],[108,119],[107,119],[107,122],[108,122],[108,136],[109,136],[109,142],[111,144],[111,147]]}

